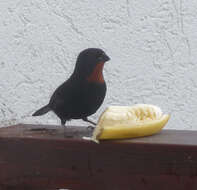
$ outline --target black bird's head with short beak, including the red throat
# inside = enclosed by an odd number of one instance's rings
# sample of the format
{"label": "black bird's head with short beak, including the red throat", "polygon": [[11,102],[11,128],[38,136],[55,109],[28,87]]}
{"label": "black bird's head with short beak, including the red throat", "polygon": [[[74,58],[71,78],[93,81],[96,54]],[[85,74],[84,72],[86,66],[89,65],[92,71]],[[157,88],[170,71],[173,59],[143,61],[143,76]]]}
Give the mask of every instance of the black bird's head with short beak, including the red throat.
{"label": "black bird's head with short beak, including the red throat", "polygon": [[80,77],[101,77],[104,63],[109,61],[109,56],[98,48],[88,48],[83,50],[77,57],[74,73]]}

